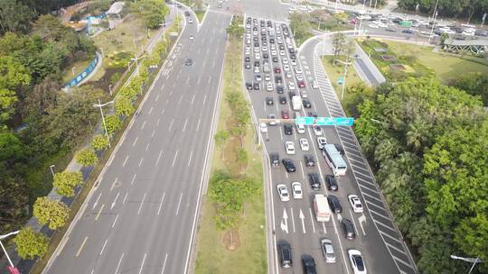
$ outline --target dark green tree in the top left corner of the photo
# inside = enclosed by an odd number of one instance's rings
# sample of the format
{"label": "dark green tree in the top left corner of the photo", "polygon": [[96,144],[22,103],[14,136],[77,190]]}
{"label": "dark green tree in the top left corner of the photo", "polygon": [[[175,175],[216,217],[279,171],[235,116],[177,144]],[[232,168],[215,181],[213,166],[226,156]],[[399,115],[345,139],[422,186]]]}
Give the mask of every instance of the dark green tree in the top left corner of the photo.
{"label": "dark green tree in the top left corner of the photo", "polygon": [[15,0],[0,1],[0,34],[5,32],[27,33],[34,13],[29,7]]}

